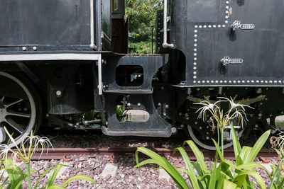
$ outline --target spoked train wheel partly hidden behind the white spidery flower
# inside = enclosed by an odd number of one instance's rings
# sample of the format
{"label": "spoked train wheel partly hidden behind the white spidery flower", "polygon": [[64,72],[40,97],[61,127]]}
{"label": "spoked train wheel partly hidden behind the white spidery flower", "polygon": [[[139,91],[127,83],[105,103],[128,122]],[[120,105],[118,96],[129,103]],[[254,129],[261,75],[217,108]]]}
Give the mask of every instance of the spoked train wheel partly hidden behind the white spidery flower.
{"label": "spoked train wheel partly hidden behind the white spidery flower", "polygon": [[[212,138],[217,141],[217,134],[211,135],[210,137],[205,137],[204,134],[200,134],[195,127],[191,127],[190,125],[187,125],[187,131],[190,135],[191,139],[200,147],[204,149],[209,150],[216,150],[216,147],[214,146],[214,143],[212,141]],[[210,131],[212,132],[212,131]],[[217,132],[217,131],[216,131]],[[241,134],[243,131],[239,132],[238,137],[241,137]],[[224,141],[224,149],[229,148],[233,145],[233,142],[226,142]],[[220,147],[221,148],[221,147]]]}

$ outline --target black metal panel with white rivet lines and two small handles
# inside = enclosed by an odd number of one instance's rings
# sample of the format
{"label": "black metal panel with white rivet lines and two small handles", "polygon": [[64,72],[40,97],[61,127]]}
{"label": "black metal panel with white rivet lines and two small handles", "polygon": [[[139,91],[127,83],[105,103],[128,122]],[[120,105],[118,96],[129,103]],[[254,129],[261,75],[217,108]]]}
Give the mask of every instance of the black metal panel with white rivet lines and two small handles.
{"label": "black metal panel with white rivet lines and two small handles", "polygon": [[[283,8],[281,0],[241,5],[239,1],[174,0],[171,35],[186,55],[185,85],[282,86]],[[180,24],[184,18],[187,23]],[[240,21],[241,27],[231,28],[234,21]],[[224,57],[233,60],[223,64]]]}

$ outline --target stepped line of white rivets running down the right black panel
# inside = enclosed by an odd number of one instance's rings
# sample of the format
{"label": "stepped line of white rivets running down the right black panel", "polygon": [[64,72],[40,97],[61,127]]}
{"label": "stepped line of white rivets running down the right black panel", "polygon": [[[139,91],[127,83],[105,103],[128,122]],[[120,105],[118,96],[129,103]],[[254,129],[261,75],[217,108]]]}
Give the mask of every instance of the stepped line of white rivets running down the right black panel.
{"label": "stepped line of white rivets running down the right black panel", "polygon": [[[229,18],[229,1],[226,1],[226,16],[225,16],[225,18],[226,19],[228,19]],[[227,20],[225,20],[225,23],[228,23],[228,21]],[[223,24],[223,25],[195,25],[195,30],[194,30],[194,41],[195,41],[195,43],[194,43],[194,49],[193,49],[193,51],[194,51],[194,53],[193,53],[193,56],[194,56],[194,62],[193,62],[193,79],[197,79],[197,33],[198,33],[198,28],[225,28],[226,27],[226,25],[225,24]],[[196,83],[196,81],[194,82],[194,83]]]}

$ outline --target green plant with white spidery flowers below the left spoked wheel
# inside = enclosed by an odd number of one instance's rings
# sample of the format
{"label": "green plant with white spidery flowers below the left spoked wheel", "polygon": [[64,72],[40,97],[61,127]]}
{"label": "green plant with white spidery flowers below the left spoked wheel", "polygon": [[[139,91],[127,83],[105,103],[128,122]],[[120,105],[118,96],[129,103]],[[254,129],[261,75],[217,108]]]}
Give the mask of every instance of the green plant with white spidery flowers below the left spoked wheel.
{"label": "green plant with white spidery flowers below the left spoked wheel", "polygon": [[[37,171],[34,168],[30,167],[31,158],[32,158],[33,154],[35,153],[35,150],[37,150],[39,147],[41,147],[41,149],[42,149],[41,154],[43,154],[43,149],[46,148],[47,149],[46,153],[48,153],[48,149],[50,147],[53,148],[53,145],[51,144],[50,140],[47,137],[39,137],[39,136],[33,135],[33,132],[31,132],[30,136],[26,137],[26,139],[23,139],[23,142],[21,143],[21,148],[23,150],[21,151],[20,147],[18,147],[18,145],[16,144],[16,142],[13,139],[13,137],[11,136],[11,134],[8,132],[8,130],[6,130],[6,127],[4,127],[4,129],[6,131],[6,134],[11,139],[11,142],[13,142],[13,144],[15,145],[16,150],[11,149],[9,146],[7,146],[5,144],[1,144],[0,154],[3,157],[2,162],[4,162],[4,171],[6,171],[8,173],[8,178],[6,178],[4,180],[4,183],[0,184],[0,189],[1,188],[11,188],[11,189],[12,188],[22,188],[22,183],[25,180],[25,178],[27,178],[27,177],[28,177],[28,188],[31,189],[32,188],[31,173]],[[26,149],[28,151],[26,151]],[[9,151],[11,151],[13,159],[7,158]],[[41,154],[40,154],[40,156],[41,156]],[[21,168],[18,168],[18,166],[13,164],[13,160],[16,159],[16,157],[21,159],[21,161],[23,161],[23,163],[26,164],[26,168],[27,168],[26,172],[21,171]],[[50,177],[48,178],[48,183],[46,183],[46,185],[45,185],[45,189],[48,189],[48,188],[50,188],[50,189],[51,188],[64,188],[65,185],[67,185],[68,183],[70,183],[70,181],[73,181],[75,179],[82,179],[82,180],[86,180],[86,181],[89,181],[89,182],[92,182],[92,183],[96,183],[89,176],[77,175],[77,176],[73,176],[72,178],[69,178],[62,185],[55,184],[54,183],[55,178],[56,178],[58,172],[60,171],[60,168],[62,168],[62,166],[64,166],[64,165],[58,164],[58,165],[55,166],[55,168],[53,168],[53,171],[50,174]],[[35,183],[34,188],[37,187],[38,183],[40,182],[40,179],[43,178],[43,176],[45,176],[45,174],[48,173],[50,170],[51,170],[51,168],[48,168],[41,175],[40,175],[39,171],[37,171],[38,172],[38,181]],[[1,175],[1,178],[3,177],[3,173]]]}

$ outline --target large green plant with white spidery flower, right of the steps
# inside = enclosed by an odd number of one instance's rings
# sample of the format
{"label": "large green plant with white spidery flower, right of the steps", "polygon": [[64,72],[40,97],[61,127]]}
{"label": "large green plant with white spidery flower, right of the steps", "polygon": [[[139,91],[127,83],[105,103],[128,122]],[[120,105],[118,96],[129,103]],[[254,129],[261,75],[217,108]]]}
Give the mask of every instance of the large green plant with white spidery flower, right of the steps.
{"label": "large green plant with white spidery flower, right of the steps", "polygon": [[[226,98],[226,101],[228,100],[229,99]],[[244,105],[234,103],[232,99],[229,100],[231,110],[229,110],[229,112],[226,114],[224,114],[223,111],[220,110],[219,107],[217,107],[217,103],[212,104],[209,103],[209,101],[206,101],[206,103],[207,105],[204,105],[197,112],[200,112],[199,116],[201,118],[204,118],[204,113],[207,110],[214,110],[214,112],[212,111],[212,115],[218,123],[218,130],[220,128],[224,129],[224,125],[229,124],[229,120],[231,118],[236,118],[236,115],[238,117],[241,116],[241,119],[245,118],[244,112],[242,111],[244,110]],[[242,110],[239,110],[238,108],[241,108]],[[241,121],[243,121],[244,123],[244,120]],[[205,164],[202,151],[200,151],[194,144],[194,142],[192,142],[191,140],[185,141],[184,144],[188,144],[190,149],[192,149],[192,152],[195,154],[198,163],[190,161],[185,149],[183,149],[182,147],[175,149],[173,151],[173,154],[175,154],[176,151],[180,151],[182,159],[185,162],[185,168],[175,168],[167,161],[167,159],[165,159],[165,157],[156,154],[150,149],[138,147],[136,151],[137,165],[135,166],[135,168],[146,164],[158,164],[161,168],[165,169],[165,171],[171,176],[171,178],[173,178],[173,181],[175,181],[179,188],[190,188],[189,185],[187,185],[185,179],[182,178],[180,172],[184,172],[187,174],[187,178],[193,188],[254,188],[254,184],[252,181],[249,180],[249,176],[253,176],[253,178],[255,178],[255,181],[260,188],[266,188],[263,178],[261,178],[261,176],[257,173],[255,169],[256,167],[263,168],[263,166],[261,166],[261,164],[254,163],[253,160],[256,158],[258,151],[261,150],[261,147],[263,147],[263,144],[265,144],[266,140],[268,139],[270,130],[265,132],[258,139],[258,141],[256,142],[256,144],[254,144],[253,147],[245,146],[241,148],[241,144],[239,143],[239,139],[236,136],[234,126],[230,124],[230,127],[234,144],[236,164],[234,164],[233,161],[224,159],[223,148],[221,150],[219,149],[218,137],[218,142],[214,141],[213,139],[217,151],[214,159],[214,166],[211,171],[209,168],[207,168],[207,165]],[[138,152],[146,154],[147,156],[151,157],[151,159],[147,159],[139,163]],[[218,158],[221,159],[221,163],[219,164],[219,166],[217,166]],[[195,171],[197,171],[197,175],[195,175]]]}

